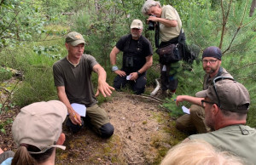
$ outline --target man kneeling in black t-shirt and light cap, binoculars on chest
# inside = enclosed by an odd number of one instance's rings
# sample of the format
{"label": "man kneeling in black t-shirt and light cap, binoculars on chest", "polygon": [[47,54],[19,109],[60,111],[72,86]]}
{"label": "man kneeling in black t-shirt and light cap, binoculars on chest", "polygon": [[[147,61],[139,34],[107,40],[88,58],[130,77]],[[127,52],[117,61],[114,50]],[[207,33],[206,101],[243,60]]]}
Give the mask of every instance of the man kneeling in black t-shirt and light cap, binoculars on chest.
{"label": "man kneeling in black t-shirt and light cap, binoculars on chest", "polygon": [[[131,34],[121,37],[110,53],[112,71],[117,76],[113,80],[116,90],[131,84],[135,94],[143,94],[147,83],[146,73],[153,64],[153,48],[146,37],[143,37],[143,22],[133,20]],[[123,65],[119,70],[116,65],[117,54],[123,51]]]}

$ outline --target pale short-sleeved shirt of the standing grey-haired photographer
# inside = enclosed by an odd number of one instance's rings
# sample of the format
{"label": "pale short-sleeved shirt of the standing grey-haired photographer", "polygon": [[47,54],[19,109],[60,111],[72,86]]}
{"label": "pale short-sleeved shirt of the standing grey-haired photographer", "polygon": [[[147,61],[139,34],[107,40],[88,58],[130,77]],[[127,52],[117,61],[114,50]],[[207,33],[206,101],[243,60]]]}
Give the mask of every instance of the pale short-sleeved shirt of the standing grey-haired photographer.
{"label": "pale short-sleeved shirt of the standing grey-haired photographer", "polygon": [[170,5],[163,6],[161,18],[166,20],[177,20],[176,27],[167,27],[160,23],[160,40],[161,42],[170,41],[172,38],[177,37],[182,28],[182,21],[177,14],[177,10]]}

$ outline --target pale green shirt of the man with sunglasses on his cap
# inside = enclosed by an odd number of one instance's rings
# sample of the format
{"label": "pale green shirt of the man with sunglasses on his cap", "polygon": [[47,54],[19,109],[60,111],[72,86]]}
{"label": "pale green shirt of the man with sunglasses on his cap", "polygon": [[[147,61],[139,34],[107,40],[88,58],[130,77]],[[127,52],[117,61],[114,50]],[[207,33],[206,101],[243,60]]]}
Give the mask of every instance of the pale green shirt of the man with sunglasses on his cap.
{"label": "pale green shirt of the man with sunglasses on his cap", "polygon": [[189,139],[203,139],[211,145],[231,151],[256,164],[256,129],[245,125],[231,125],[207,134],[193,134]]}

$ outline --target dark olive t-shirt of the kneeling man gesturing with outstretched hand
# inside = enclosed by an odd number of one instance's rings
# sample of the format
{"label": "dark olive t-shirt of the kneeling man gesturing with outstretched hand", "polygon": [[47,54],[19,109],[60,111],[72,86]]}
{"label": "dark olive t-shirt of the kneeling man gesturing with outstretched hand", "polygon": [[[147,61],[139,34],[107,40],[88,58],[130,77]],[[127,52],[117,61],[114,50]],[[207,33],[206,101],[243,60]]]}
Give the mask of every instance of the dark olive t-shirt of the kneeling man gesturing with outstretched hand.
{"label": "dark olive t-shirt of the kneeling man gesturing with outstretched hand", "polygon": [[86,107],[95,105],[97,100],[91,83],[91,72],[96,59],[83,54],[79,65],[74,67],[67,58],[58,60],[53,65],[55,86],[65,86],[67,99],[72,103],[83,104]]}

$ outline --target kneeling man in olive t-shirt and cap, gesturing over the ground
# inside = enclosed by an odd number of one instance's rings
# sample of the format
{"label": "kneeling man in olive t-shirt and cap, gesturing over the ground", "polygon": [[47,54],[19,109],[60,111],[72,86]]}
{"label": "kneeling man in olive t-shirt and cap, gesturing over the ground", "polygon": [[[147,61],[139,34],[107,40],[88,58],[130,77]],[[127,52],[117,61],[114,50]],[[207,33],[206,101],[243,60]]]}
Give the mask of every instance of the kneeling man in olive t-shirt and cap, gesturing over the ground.
{"label": "kneeling man in olive t-shirt and cap, gesturing over the ground", "polygon": [[[67,106],[66,125],[73,133],[84,127],[85,120],[102,138],[109,138],[114,128],[107,112],[96,104],[96,96],[100,93],[104,97],[111,95],[114,88],[106,82],[107,73],[96,59],[90,54],[84,54],[84,43],[80,33],[73,31],[67,34],[65,46],[68,54],[53,65],[55,86],[59,99]],[[98,75],[96,94],[91,82],[92,71]],[[86,118],[73,109],[73,103],[85,105]]]}

